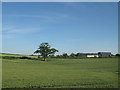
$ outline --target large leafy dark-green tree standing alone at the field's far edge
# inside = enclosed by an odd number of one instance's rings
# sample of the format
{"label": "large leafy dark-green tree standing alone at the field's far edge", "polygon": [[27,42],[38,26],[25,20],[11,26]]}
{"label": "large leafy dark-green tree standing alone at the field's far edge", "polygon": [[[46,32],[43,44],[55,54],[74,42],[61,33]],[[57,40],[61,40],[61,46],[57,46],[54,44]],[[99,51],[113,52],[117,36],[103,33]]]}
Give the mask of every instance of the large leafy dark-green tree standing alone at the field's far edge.
{"label": "large leafy dark-green tree standing alone at the field's far edge", "polygon": [[39,48],[34,53],[40,54],[41,56],[43,56],[44,61],[46,61],[48,55],[54,55],[56,52],[58,52],[58,50],[56,50],[55,48],[51,48],[48,43],[41,43]]}

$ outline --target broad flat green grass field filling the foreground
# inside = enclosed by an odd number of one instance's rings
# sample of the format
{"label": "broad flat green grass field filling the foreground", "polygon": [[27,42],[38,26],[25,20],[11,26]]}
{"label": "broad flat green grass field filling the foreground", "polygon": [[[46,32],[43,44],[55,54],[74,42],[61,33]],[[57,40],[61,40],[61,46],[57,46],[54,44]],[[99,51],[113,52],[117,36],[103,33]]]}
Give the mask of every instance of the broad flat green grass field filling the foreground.
{"label": "broad flat green grass field filling the foreground", "polygon": [[3,88],[118,87],[117,58],[2,59],[2,70]]}

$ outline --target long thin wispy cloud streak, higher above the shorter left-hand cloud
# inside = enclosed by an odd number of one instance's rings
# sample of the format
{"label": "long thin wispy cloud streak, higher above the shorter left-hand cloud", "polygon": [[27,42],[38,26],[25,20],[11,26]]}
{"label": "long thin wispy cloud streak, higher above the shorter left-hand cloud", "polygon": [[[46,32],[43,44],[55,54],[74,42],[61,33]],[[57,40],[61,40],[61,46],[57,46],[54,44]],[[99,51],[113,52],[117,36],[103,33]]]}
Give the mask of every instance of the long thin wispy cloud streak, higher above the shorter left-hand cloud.
{"label": "long thin wispy cloud streak, higher above the shorter left-hand cloud", "polygon": [[41,21],[45,22],[55,22],[58,20],[64,20],[64,19],[73,19],[73,16],[70,16],[67,13],[59,13],[59,12],[47,12],[43,14],[14,14],[14,15],[3,15],[3,17],[8,18],[24,18],[24,19],[39,19]]}

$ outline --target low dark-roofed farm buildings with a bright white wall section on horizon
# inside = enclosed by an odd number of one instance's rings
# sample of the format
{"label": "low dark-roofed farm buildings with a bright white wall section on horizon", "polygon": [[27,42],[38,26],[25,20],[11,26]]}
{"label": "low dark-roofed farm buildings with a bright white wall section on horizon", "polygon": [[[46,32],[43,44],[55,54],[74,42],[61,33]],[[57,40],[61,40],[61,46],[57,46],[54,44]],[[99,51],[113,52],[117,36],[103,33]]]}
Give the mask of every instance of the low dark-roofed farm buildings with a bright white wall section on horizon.
{"label": "low dark-roofed farm buildings with a bright white wall section on horizon", "polygon": [[81,58],[86,57],[110,57],[112,56],[111,52],[98,52],[98,53],[77,53],[76,56]]}

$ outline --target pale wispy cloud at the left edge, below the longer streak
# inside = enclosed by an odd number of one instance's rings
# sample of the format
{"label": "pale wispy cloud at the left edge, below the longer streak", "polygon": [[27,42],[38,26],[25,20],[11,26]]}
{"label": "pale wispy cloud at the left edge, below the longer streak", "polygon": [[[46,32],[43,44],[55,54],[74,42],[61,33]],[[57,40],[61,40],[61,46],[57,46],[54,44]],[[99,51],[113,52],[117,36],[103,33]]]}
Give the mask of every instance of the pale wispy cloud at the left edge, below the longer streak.
{"label": "pale wispy cloud at the left edge, below the longer streak", "polygon": [[43,28],[19,28],[14,26],[4,26],[2,29],[3,39],[15,39],[18,36],[23,36],[24,34],[33,34],[44,30]]}

